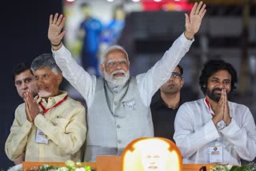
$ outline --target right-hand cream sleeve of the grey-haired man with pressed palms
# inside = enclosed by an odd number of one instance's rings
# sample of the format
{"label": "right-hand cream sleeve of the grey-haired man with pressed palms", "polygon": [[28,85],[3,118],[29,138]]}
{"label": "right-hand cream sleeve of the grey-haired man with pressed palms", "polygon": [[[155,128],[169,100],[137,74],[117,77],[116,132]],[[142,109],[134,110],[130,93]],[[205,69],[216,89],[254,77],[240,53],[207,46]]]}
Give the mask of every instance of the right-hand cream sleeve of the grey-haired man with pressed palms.
{"label": "right-hand cream sleeve of the grey-haired man with pressed palms", "polygon": [[77,153],[86,140],[85,108],[82,105],[72,106],[69,102],[61,106],[64,109],[52,111],[56,117],[51,121],[41,114],[34,119],[34,125],[66,155]]}

